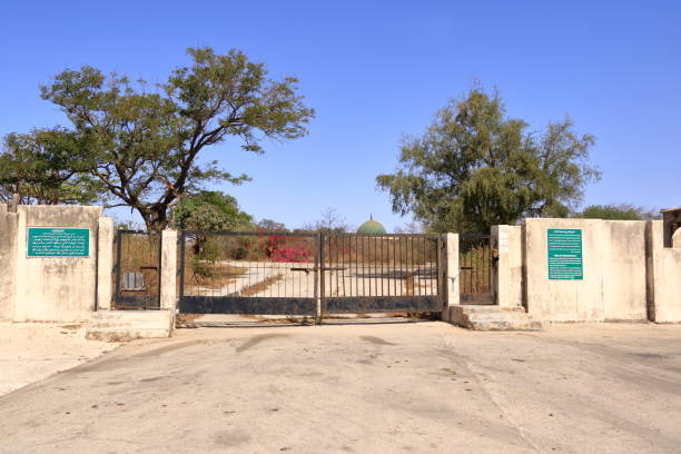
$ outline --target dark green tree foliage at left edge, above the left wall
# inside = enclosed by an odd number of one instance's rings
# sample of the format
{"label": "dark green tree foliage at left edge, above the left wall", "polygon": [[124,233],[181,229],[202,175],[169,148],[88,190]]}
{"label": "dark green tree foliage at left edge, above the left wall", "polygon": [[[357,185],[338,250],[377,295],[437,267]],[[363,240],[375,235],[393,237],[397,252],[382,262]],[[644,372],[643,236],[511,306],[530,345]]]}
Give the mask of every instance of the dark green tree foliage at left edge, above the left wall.
{"label": "dark green tree foliage at left edge, above the left wall", "polygon": [[81,204],[101,200],[101,186],[83,171],[87,139],[63,128],[9,134],[0,152],[0,200],[21,204]]}

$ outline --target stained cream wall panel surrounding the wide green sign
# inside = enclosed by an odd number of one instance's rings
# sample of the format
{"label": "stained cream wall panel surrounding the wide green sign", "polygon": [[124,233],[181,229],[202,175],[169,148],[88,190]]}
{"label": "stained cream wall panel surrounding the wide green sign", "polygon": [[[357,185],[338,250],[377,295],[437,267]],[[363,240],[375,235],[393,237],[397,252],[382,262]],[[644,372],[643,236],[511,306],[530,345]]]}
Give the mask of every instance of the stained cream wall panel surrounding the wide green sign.
{"label": "stained cream wall panel surrounding the wide green sign", "polygon": [[[19,206],[16,322],[86,320],[97,298],[97,231],[101,207]],[[89,257],[27,257],[28,227],[90,229]]]}

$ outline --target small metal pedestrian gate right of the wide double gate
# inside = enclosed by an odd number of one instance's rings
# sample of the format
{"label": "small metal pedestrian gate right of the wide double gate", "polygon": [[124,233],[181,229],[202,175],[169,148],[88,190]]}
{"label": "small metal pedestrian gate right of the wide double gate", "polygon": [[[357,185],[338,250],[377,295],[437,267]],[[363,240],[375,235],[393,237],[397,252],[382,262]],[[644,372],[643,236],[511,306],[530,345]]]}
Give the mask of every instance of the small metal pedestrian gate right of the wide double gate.
{"label": "small metal pedestrian gate right of the wide double gate", "polygon": [[462,304],[494,304],[490,235],[458,236],[458,285]]}

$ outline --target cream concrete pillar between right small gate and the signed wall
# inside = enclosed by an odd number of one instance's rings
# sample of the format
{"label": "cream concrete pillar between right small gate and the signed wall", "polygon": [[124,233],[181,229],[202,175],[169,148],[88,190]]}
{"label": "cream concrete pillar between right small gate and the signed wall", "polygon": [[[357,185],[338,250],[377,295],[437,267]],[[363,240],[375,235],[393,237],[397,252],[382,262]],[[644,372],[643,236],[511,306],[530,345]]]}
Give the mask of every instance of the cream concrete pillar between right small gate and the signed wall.
{"label": "cream concrete pillar between right small gate and the signed wall", "polygon": [[493,270],[495,303],[500,306],[523,304],[522,227],[493,226],[492,247],[497,260]]}

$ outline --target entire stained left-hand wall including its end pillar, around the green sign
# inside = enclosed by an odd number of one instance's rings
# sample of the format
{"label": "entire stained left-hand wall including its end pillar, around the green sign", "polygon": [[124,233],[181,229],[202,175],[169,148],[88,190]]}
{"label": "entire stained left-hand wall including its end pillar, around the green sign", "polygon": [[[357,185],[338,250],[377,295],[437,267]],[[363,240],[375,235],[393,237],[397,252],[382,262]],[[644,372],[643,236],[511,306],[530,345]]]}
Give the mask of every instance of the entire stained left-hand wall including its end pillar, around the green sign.
{"label": "entire stained left-hand wall including its end pillar, around the green sign", "polygon": [[[0,205],[0,319],[80,322],[95,310],[98,296],[110,300],[111,246],[103,245],[111,239],[112,224],[101,217],[101,207],[29,205],[17,207],[16,214],[7,210]],[[89,256],[28,257],[29,227],[88,228]]]}

